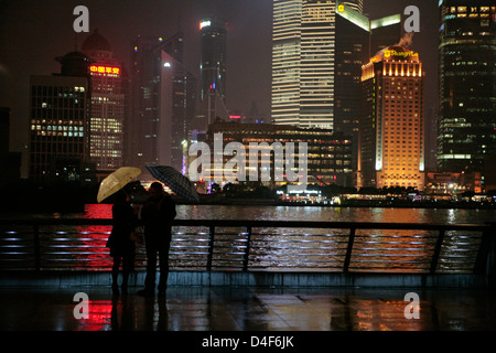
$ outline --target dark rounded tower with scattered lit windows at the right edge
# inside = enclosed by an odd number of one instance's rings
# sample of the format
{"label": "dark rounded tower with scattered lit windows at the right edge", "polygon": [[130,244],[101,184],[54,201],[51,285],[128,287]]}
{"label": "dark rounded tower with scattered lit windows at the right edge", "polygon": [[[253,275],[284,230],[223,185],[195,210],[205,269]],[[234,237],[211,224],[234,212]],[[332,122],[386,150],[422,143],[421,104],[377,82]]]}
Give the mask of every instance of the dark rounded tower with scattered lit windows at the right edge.
{"label": "dark rounded tower with scattered lit windows at the right edge", "polygon": [[443,0],[440,11],[438,168],[478,173],[482,191],[496,158],[496,4]]}

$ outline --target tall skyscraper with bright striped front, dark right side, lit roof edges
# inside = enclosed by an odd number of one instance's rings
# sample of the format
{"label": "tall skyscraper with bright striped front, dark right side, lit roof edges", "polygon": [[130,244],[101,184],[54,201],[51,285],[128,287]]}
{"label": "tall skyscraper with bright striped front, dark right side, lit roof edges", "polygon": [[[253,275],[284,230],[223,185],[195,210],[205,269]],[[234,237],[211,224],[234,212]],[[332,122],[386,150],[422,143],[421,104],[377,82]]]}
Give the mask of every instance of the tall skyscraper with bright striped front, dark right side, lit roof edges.
{"label": "tall skyscraper with bright striped front, dark right side, lit roof edges", "polygon": [[370,21],[363,1],[274,0],[272,121],[354,137],[362,65],[401,38],[401,15]]}

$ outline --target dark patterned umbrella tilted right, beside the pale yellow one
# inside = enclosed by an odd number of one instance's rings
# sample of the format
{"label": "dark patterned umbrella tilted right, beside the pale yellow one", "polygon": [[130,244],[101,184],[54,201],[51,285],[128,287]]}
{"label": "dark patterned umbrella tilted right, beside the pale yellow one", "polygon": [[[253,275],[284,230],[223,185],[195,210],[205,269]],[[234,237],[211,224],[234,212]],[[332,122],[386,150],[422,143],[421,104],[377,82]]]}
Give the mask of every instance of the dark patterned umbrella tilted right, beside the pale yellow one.
{"label": "dark patterned umbrella tilted right, beside the pale yellow one", "polygon": [[150,173],[187,201],[200,202],[198,193],[190,179],[169,165],[147,165]]}

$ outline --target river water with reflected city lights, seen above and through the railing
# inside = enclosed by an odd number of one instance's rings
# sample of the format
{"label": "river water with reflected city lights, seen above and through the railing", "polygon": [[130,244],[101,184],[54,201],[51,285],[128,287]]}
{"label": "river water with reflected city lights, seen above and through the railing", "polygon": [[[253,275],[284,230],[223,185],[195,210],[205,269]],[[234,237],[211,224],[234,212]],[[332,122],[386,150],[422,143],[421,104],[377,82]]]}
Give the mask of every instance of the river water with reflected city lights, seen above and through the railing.
{"label": "river water with reflected city lights, seen above and through the railing", "polygon": [[[179,220],[249,220],[373,222],[413,224],[484,224],[496,220],[496,210],[322,207],[258,205],[177,205]],[[9,218],[10,215],[1,215]],[[111,205],[89,204],[78,214],[36,214],[24,217],[111,218]],[[19,218],[17,216],[15,218]],[[0,268],[33,264],[32,229],[4,226],[0,229]],[[109,268],[111,259],[106,240],[110,226],[44,226],[41,232],[42,268]],[[205,268],[208,258],[208,227],[174,226],[171,266]],[[213,266],[237,268],[246,250],[246,227],[217,227]],[[349,229],[277,228],[252,229],[250,268],[341,270]],[[428,270],[436,232],[357,229],[352,267],[368,266],[384,271],[400,264],[403,270]],[[470,271],[481,245],[481,235],[448,232],[441,258],[442,269]],[[144,248],[138,247],[137,265],[144,265]],[[453,263],[450,255],[461,259]],[[460,256],[462,255],[462,256]],[[468,260],[468,267],[465,266]],[[353,265],[356,259],[356,265]],[[400,263],[402,261],[402,263]],[[442,263],[442,261],[445,261]],[[13,264],[13,265],[12,265]],[[460,265],[460,266],[459,266]],[[463,266],[462,266],[463,265]]]}

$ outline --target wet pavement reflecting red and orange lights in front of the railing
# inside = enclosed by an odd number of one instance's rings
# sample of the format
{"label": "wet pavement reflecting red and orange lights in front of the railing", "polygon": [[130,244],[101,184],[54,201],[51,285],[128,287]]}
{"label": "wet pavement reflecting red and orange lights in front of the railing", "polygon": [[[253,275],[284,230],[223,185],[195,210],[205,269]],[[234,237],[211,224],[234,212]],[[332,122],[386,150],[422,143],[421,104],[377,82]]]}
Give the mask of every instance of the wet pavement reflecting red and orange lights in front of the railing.
{"label": "wet pavement reflecting red and orange lights in front of the railing", "polygon": [[[1,331],[494,331],[484,290],[171,287],[143,298],[130,288],[0,288]],[[78,306],[87,295],[88,318]],[[414,292],[419,306],[410,301]],[[407,308],[408,307],[408,308]],[[418,315],[417,315],[418,313]],[[407,318],[407,317],[410,317]]]}

